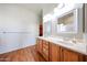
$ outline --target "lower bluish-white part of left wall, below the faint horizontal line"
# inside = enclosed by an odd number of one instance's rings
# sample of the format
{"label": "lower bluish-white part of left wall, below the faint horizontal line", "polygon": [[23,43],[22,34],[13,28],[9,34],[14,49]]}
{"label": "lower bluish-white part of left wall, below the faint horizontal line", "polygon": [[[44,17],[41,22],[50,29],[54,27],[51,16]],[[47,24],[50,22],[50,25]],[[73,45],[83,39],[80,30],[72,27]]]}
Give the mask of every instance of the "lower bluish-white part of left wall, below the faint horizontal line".
{"label": "lower bluish-white part of left wall, below the faint horizontal line", "polygon": [[35,44],[35,36],[29,33],[6,33],[0,34],[0,54],[23,48]]}

